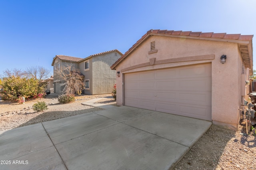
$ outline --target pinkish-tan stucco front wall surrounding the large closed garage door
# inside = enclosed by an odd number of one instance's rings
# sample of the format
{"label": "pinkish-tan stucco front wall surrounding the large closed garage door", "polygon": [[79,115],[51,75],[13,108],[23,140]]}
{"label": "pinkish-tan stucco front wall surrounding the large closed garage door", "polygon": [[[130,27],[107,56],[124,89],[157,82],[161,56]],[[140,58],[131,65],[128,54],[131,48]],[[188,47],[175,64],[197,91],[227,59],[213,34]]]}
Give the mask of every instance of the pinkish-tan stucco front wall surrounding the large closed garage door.
{"label": "pinkish-tan stucco front wall surrounding the large closed garage door", "polygon": [[[158,52],[148,54],[148,51],[150,51],[150,42],[153,41],[156,42]],[[241,108],[242,101],[242,61],[237,43],[151,36],[135,51],[130,53],[130,55],[116,67],[116,71],[121,71],[141,63],[147,63],[150,58],[154,57],[157,61],[212,54],[214,55],[214,59],[148,65],[121,72],[120,77],[116,77],[117,104],[124,104],[124,86],[122,85],[124,73],[198,63],[212,63],[212,121],[214,124],[236,129],[240,113],[238,109]],[[227,56],[226,63],[224,64],[220,63],[220,57],[223,54]]]}

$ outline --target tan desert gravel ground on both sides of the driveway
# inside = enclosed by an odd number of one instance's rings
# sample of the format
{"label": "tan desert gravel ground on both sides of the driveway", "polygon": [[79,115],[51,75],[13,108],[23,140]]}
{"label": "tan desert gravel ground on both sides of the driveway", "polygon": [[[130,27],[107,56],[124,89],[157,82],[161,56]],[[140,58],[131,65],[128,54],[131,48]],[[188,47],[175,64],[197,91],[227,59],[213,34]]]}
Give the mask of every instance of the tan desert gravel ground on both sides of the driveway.
{"label": "tan desert gravel ground on both sides of the driveway", "polygon": [[[69,104],[60,104],[57,98],[36,99],[25,104],[0,101],[0,131],[99,111],[102,109],[81,103],[107,96],[111,94],[76,97],[76,101]],[[35,113],[32,105],[38,101],[45,101],[48,109]],[[98,102],[116,105],[112,98]],[[236,132],[212,125],[174,170],[256,170],[256,136],[253,132],[245,134],[244,120],[241,120]]]}

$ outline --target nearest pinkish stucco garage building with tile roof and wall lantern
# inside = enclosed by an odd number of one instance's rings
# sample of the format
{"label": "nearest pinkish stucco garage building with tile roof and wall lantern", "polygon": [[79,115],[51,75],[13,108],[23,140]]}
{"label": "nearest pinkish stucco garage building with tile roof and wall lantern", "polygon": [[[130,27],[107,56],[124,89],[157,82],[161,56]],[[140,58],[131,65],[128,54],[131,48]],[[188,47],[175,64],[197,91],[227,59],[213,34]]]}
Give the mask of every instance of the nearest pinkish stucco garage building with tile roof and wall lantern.
{"label": "nearest pinkish stucco garage building with tile roof and wall lantern", "polygon": [[236,129],[248,99],[252,38],[149,30],[111,66],[119,73],[117,104]]}

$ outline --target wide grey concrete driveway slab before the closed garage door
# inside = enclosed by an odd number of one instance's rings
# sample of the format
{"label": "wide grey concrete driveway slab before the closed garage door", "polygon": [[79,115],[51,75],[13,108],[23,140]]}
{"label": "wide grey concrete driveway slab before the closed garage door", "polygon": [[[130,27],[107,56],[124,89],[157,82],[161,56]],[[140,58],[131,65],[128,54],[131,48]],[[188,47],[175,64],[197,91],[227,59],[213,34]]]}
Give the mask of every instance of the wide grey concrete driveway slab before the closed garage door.
{"label": "wide grey concrete driveway slab before the closed garage door", "polygon": [[168,170],[211,122],[115,107],[0,132],[1,170]]}

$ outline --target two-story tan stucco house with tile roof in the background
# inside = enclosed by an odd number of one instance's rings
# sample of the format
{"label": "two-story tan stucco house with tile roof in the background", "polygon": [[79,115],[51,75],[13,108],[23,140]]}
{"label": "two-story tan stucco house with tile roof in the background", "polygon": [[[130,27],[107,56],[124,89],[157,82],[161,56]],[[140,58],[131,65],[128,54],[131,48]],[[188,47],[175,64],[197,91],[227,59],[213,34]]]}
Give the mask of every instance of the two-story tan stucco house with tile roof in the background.
{"label": "two-story tan stucco house with tile roof in the background", "polygon": [[[111,93],[116,83],[116,71],[110,66],[120,57],[122,53],[117,49],[90,55],[86,58],[56,55],[52,61],[54,70],[72,63],[84,75],[84,94],[97,95]],[[64,63],[63,63],[64,62]],[[63,90],[62,80],[54,75],[54,92]]]}

